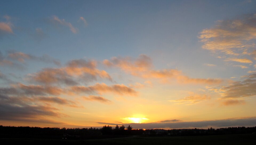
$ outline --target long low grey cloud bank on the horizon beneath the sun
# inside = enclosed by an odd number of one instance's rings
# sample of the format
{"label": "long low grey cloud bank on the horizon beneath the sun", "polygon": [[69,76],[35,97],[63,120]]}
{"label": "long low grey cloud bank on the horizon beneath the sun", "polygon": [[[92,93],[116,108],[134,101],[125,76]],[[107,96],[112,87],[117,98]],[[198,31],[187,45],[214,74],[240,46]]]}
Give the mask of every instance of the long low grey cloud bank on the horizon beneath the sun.
{"label": "long low grey cloud bank on the horizon beneath the sun", "polygon": [[168,122],[168,123],[129,123],[129,124],[116,124],[107,122],[97,122],[105,125],[131,125],[134,129],[156,129],[156,128],[225,128],[234,126],[255,126],[256,117],[244,117],[244,118],[229,118],[223,120],[206,120],[206,121],[194,121],[194,122]]}

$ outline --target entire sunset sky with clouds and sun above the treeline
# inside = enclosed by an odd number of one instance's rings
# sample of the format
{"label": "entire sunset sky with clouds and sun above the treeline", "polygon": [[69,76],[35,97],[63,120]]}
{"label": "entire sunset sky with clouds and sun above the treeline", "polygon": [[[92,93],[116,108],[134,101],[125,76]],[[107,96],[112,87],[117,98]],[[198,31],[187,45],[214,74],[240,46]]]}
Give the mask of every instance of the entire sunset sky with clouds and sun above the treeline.
{"label": "entire sunset sky with clouds and sun above the treeline", "polygon": [[256,1],[0,2],[0,124],[256,126]]}

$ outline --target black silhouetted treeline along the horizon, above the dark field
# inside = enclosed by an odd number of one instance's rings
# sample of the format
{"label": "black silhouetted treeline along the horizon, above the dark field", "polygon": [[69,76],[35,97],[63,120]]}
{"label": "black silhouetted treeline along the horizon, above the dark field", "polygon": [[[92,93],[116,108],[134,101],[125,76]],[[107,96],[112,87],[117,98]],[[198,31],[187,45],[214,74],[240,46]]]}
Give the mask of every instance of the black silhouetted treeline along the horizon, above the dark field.
{"label": "black silhouetted treeline along the horizon, above the dark field", "polygon": [[103,126],[102,128],[40,128],[0,126],[0,138],[51,138],[51,139],[100,139],[130,135],[143,136],[192,136],[256,133],[255,127],[229,127],[218,129],[133,129],[130,125]]}

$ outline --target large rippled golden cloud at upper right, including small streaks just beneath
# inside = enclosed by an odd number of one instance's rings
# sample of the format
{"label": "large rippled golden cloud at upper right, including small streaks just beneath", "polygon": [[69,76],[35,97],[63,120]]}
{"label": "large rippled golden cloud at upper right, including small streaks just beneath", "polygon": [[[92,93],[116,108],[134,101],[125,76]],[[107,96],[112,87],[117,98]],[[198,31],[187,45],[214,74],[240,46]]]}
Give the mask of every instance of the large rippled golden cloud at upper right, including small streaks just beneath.
{"label": "large rippled golden cloud at upper right, including small streaks just beneath", "polygon": [[203,43],[203,49],[222,54],[220,58],[226,58],[225,61],[251,64],[251,57],[256,60],[256,14],[218,20],[213,28],[202,30],[198,38]]}

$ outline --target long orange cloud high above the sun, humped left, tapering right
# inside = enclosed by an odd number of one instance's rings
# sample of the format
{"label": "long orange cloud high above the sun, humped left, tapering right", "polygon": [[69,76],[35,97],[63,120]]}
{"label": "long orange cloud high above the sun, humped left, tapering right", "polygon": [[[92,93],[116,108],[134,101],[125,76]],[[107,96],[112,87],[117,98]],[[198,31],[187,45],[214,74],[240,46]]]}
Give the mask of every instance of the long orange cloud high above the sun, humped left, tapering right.
{"label": "long orange cloud high above the sun, humped left, tapering right", "polygon": [[142,78],[159,79],[162,82],[169,82],[170,79],[174,79],[179,83],[194,83],[194,84],[220,84],[223,82],[221,79],[211,78],[190,78],[182,74],[177,69],[153,69],[152,60],[145,54],[139,55],[137,59],[130,57],[113,57],[110,60],[103,60],[103,64],[107,67],[117,67],[126,73],[130,73],[133,76]]}

